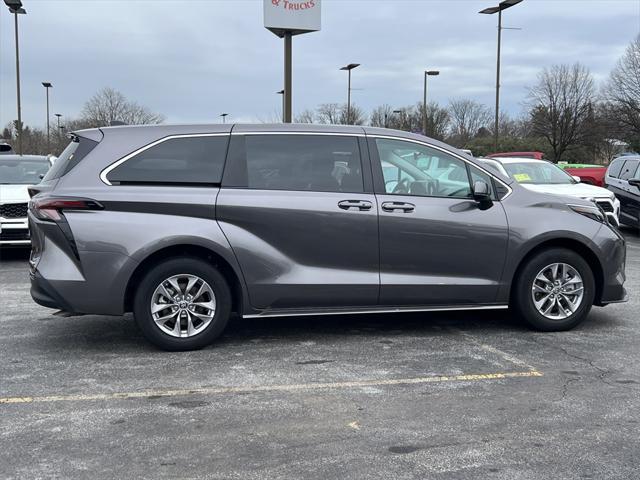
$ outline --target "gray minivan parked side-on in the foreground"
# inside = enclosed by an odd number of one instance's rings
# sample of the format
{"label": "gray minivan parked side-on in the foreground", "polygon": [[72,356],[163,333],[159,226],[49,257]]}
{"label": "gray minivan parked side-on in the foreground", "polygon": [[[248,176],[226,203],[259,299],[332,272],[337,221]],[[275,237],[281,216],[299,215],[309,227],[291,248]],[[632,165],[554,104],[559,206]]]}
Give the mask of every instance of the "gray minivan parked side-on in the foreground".
{"label": "gray minivan parked side-on in the foreground", "polygon": [[595,204],[406,132],[82,130],[31,194],[34,300],[133,312],[168,350],[209,344],[231,312],[511,306],[550,331],[626,297],[625,243]]}

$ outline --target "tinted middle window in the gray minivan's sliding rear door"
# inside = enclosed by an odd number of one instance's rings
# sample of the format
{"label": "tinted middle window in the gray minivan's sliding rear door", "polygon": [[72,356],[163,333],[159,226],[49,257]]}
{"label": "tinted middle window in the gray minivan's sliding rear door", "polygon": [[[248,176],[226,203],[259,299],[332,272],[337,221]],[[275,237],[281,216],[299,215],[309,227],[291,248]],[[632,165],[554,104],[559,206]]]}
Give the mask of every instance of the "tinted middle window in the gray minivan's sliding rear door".
{"label": "tinted middle window in the gray minivan's sliding rear door", "polygon": [[247,135],[245,149],[249,188],[364,191],[360,149],[355,137]]}

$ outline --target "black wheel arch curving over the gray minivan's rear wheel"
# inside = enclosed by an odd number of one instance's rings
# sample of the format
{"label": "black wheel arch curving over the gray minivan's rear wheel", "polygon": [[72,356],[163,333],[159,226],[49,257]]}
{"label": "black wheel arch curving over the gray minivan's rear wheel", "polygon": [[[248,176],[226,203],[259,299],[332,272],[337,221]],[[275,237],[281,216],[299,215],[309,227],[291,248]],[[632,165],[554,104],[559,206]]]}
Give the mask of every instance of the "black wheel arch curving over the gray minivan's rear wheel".
{"label": "black wheel arch curving over the gray minivan's rear wheel", "polygon": [[202,245],[194,244],[178,244],[171,245],[147,255],[134,269],[133,273],[127,281],[124,294],[124,311],[131,312],[133,310],[133,299],[135,295],[135,286],[140,282],[142,277],[159,262],[170,258],[191,257],[204,260],[214,265],[229,283],[231,290],[232,305],[231,311],[239,314],[243,313],[243,307],[246,305],[244,296],[244,288],[241,281],[240,273],[227,261],[221,254]]}

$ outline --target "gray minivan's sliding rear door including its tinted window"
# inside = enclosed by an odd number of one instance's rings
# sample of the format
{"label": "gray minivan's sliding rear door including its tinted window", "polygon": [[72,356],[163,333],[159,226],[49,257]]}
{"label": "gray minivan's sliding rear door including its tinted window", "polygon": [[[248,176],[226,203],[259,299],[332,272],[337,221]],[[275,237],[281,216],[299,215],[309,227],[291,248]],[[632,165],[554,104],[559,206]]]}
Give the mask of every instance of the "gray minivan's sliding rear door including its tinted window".
{"label": "gray minivan's sliding rear door including its tinted window", "polygon": [[357,135],[232,135],[216,216],[255,308],[376,305],[377,205],[363,152]]}

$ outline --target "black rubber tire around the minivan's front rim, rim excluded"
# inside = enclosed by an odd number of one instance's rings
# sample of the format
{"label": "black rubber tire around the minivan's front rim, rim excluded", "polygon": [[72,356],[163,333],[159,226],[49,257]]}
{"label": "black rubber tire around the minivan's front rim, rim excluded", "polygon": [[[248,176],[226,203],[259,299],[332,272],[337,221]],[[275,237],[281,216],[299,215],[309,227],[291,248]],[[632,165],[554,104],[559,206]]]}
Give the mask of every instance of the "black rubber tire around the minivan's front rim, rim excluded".
{"label": "black rubber tire around the minivan's front rim, rim excluded", "polygon": [[[571,315],[554,320],[545,317],[535,307],[532,288],[538,273],[553,263],[566,263],[580,274],[584,286],[582,302]],[[595,280],[593,271],[585,259],[578,253],[566,248],[550,248],[541,251],[527,261],[520,270],[511,297],[511,307],[518,316],[535,330],[557,332],[570,330],[587,317],[595,298]]]}

